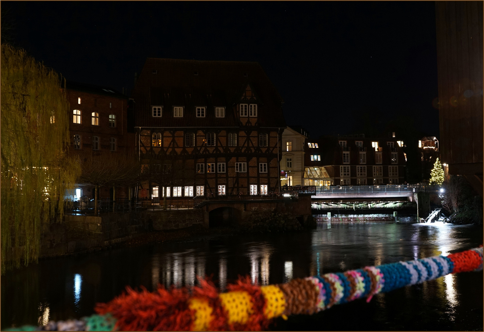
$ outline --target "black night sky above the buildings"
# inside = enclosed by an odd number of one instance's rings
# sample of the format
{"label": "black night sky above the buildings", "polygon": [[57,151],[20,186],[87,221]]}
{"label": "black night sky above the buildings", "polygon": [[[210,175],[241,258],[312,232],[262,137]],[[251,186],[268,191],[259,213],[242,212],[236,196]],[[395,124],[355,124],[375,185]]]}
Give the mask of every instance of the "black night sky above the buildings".
{"label": "black night sky above the buildings", "polygon": [[[257,61],[316,138],[407,115],[439,132],[433,1],[2,1],[13,41],[67,79],[131,90],[147,57]],[[6,15],[5,15],[6,14]]]}

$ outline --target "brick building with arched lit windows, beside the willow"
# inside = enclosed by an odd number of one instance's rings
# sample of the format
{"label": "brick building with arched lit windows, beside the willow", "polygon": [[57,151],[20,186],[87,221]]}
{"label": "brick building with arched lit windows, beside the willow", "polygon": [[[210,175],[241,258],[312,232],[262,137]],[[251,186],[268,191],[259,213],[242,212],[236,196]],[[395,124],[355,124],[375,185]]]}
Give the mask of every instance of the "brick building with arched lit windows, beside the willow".
{"label": "brick building with arched lit windows, beside the willow", "polygon": [[[82,160],[102,154],[135,151],[135,134],[128,131],[127,97],[109,87],[67,81],[70,104],[70,152]],[[93,186],[78,185],[74,199],[93,198]],[[111,193],[110,193],[111,191]],[[126,189],[116,192],[126,197]],[[99,199],[112,196],[112,189],[100,188]]]}

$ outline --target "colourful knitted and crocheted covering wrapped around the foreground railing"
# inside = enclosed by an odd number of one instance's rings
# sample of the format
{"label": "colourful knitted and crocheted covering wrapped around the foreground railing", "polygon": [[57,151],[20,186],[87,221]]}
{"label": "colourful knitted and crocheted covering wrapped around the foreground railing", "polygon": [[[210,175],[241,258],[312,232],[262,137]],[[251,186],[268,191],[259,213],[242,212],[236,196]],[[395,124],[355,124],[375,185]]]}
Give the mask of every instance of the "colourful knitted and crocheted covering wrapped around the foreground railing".
{"label": "colourful knitted and crocheted covering wrapped around the foreground railing", "polygon": [[[365,267],[345,273],[296,278],[287,284],[252,285],[240,278],[219,293],[208,281],[200,286],[155,292],[127,292],[108,303],[98,303],[99,315],[70,323],[49,322],[44,331],[262,331],[275,317],[312,315],[334,304],[367,298],[406,285],[433,280],[449,273],[483,269],[483,246],[448,256]],[[24,325],[6,331],[34,331]]]}

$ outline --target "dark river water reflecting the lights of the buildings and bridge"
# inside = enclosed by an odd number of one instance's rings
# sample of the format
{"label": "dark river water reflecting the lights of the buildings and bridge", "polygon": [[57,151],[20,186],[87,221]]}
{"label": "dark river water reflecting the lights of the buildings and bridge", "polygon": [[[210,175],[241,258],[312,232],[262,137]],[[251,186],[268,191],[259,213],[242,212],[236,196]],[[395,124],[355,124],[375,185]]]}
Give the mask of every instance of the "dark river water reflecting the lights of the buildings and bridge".
{"label": "dark river water reflecting the lights of the buildings and bridge", "polygon": [[[200,237],[45,259],[1,278],[1,328],[89,316],[96,302],[111,300],[125,285],[191,286],[196,275],[212,275],[222,289],[238,275],[268,285],[482,243],[482,226],[333,222],[300,233]],[[271,328],[483,331],[483,272],[449,275],[313,316],[279,318]]]}

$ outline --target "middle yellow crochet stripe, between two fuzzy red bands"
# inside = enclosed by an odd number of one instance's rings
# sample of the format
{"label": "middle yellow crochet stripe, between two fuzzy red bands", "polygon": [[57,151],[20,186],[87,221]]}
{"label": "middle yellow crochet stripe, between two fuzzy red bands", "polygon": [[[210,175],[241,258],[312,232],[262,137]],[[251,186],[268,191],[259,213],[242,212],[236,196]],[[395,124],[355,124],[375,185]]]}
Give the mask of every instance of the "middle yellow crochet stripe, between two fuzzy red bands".
{"label": "middle yellow crochet stripe, between two fuzzy red bands", "polygon": [[229,324],[245,324],[254,313],[251,296],[245,291],[222,293],[218,297],[222,307],[227,311]]}

